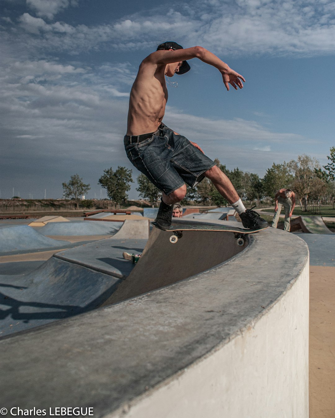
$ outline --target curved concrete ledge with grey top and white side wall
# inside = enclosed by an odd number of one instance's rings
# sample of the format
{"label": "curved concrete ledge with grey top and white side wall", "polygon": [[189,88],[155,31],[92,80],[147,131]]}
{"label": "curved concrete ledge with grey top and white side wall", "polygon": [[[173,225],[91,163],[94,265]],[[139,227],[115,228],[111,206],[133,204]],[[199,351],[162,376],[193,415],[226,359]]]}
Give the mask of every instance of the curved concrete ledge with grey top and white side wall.
{"label": "curved concrete ledge with grey top and white side wall", "polygon": [[0,340],[0,403],[95,417],[308,417],[308,248],[269,228],[230,260]]}

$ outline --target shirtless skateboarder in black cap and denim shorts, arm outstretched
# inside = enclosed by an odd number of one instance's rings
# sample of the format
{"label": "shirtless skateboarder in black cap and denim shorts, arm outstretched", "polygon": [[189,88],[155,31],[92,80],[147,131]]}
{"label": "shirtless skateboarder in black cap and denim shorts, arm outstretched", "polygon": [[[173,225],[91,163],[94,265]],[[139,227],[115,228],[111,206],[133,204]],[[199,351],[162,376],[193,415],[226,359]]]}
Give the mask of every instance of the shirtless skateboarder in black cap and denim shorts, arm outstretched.
{"label": "shirtless skateboarder in black cap and denim shorts, arm outstretched", "polygon": [[192,58],[217,68],[227,90],[229,84],[236,90],[237,87],[242,89],[242,81],[245,81],[240,74],[201,46],[183,49],[178,43],[165,42],[140,64],[130,92],[124,147],[131,163],[162,191],[156,225],[163,230],[168,229],[173,204],[185,197],[186,184],[194,187],[207,177],[235,207],[245,228],[267,227],[268,222],[260,218],[257,212],[245,209],[229,178],[204,154],[199,145],[162,123],[168,101],[165,76],[185,74],[190,70],[186,60]]}

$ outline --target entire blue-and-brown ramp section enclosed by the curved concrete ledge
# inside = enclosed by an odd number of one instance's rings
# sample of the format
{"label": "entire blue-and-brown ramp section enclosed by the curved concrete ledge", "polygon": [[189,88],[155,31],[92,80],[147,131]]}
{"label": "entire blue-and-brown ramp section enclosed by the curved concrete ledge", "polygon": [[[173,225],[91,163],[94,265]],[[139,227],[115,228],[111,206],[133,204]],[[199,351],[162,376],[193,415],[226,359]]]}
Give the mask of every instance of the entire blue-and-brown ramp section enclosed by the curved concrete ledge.
{"label": "entire blue-and-brown ramp section enclosed by the curved concrete ledge", "polygon": [[[170,285],[223,263],[249,242],[237,245],[232,232],[184,231],[172,244],[172,232],[153,228],[148,233],[148,221],[128,220],[113,237],[57,252],[35,271],[0,275],[8,308],[0,336]],[[134,265],[123,259],[123,251],[142,257]]]}

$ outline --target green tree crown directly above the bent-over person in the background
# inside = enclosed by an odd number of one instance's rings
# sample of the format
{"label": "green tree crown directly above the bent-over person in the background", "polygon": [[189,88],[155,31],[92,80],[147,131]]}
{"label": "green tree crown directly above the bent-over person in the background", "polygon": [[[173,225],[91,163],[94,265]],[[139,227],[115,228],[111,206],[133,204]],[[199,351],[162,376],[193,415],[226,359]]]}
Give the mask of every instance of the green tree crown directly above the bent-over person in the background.
{"label": "green tree crown directly above the bent-over person in the background", "polygon": [[293,176],[288,163],[285,161],[283,164],[273,163],[272,167],[266,170],[262,180],[264,194],[274,199],[276,191],[283,187],[289,189],[292,181]]}

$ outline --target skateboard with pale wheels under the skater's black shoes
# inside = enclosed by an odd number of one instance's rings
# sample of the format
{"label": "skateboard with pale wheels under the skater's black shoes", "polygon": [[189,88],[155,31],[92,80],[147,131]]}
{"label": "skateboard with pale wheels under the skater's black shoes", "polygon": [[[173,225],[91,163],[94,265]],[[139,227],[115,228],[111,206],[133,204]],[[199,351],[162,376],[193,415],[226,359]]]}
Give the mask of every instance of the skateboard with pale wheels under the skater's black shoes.
{"label": "skateboard with pale wheels under the skater's black shoes", "polygon": [[[156,222],[151,222],[151,224],[158,228]],[[222,232],[234,232],[235,239],[237,242],[237,245],[242,246],[245,243],[245,235],[246,234],[255,234],[256,232],[263,231],[265,228],[260,229],[244,229],[244,228],[238,228],[238,227],[232,227],[232,226],[226,226],[226,225],[209,225],[209,224],[178,224],[178,225],[171,225],[169,229],[166,230],[166,232],[173,232],[173,235],[170,236],[170,242],[172,244],[175,244],[178,239],[183,237],[183,231],[222,231]]]}

